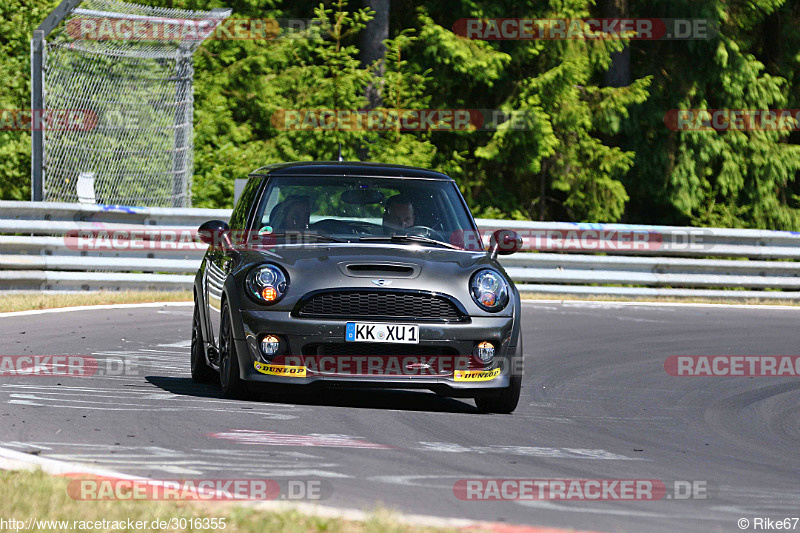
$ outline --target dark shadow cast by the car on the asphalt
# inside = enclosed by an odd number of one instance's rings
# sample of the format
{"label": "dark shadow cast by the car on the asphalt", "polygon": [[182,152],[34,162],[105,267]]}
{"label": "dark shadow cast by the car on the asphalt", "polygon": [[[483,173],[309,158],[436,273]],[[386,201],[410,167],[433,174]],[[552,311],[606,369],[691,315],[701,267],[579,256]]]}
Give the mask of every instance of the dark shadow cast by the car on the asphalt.
{"label": "dark shadow cast by the car on the asphalt", "polygon": [[[202,385],[190,378],[145,376],[156,387],[181,396],[222,398],[217,385]],[[264,392],[252,390],[242,403],[281,403],[294,405],[320,405],[330,407],[358,407],[361,409],[397,409],[402,411],[429,411],[437,413],[475,414],[477,408],[466,399],[446,398],[425,390],[397,390],[371,388],[314,388],[305,392],[283,390]]]}

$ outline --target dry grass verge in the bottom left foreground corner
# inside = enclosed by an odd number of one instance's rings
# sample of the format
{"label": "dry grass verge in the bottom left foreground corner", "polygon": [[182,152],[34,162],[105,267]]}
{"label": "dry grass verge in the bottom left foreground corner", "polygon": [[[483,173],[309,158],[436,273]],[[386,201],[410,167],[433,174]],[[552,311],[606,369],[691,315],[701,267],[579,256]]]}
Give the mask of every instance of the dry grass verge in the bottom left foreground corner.
{"label": "dry grass verge in the bottom left foreground corner", "polygon": [[[50,524],[39,524],[39,527],[24,529],[25,531],[80,531],[80,522],[96,522],[105,520],[106,527],[86,527],[84,531],[225,531],[225,533],[263,533],[273,532],[326,532],[353,531],[356,533],[395,532],[395,533],[445,533],[455,529],[438,529],[398,524],[392,515],[376,512],[365,522],[354,522],[340,518],[324,518],[305,515],[297,511],[263,511],[252,507],[233,503],[210,502],[164,502],[164,501],[82,501],[73,500],[67,492],[69,479],[49,476],[41,470],[37,471],[2,471],[0,470],[0,517],[27,522],[30,519],[50,521]],[[153,528],[153,520],[176,520],[174,525],[181,525],[181,519],[224,518],[225,528]],[[146,522],[144,529],[117,529],[111,522]],[[54,524],[53,521],[67,521]],[[184,524],[186,523],[184,521]],[[78,522],[76,524],[76,522]],[[8,525],[8,524],[6,524]],[[27,526],[28,524],[26,524]],[[101,524],[102,525],[102,524]],[[160,524],[156,524],[159,526]],[[45,527],[42,527],[45,526]],[[9,529],[9,528],[6,528]],[[14,531],[14,528],[10,528]],[[23,529],[20,529],[22,531]],[[463,530],[461,530],[463,532]]]}

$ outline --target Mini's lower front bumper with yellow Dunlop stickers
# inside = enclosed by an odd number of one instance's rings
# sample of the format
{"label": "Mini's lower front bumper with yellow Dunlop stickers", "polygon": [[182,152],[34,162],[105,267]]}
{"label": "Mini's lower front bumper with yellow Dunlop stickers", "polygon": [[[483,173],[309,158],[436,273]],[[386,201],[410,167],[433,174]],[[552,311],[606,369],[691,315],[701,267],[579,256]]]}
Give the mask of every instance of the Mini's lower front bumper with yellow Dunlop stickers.
{"label": "Mini's lower front bumper with yellow Dunlop stickers", "polygon": [[[477,396],[482,391],[491,393],[508,387],[511,373],[521,364],[516,339],[512,339],[512,316],[471,317],[469,322],[416,322],[418,345],[381,344],[379,354],[326,356],[320,355],[320,346],[347,349],[361,344],[345,343],[347,320],[297,318],[285,311],[239,313],[244,335],[236,339],[237,351],[241,377],[249,382],[428,389],[450,396]],[[260,342],[267,334],[281,338],[283,350],[277,357],[261,354]],[[495,356],[489,364],[473,356],[481,341],[495,346]],[[396,355],[393,347],[398,349]],[[418,355],[414,354],[417,348]],[[378,359],[383,366],[371,366]],[[407,366],[409,361],[416,367]],[[432,368],[420,368],[426,363]]]}

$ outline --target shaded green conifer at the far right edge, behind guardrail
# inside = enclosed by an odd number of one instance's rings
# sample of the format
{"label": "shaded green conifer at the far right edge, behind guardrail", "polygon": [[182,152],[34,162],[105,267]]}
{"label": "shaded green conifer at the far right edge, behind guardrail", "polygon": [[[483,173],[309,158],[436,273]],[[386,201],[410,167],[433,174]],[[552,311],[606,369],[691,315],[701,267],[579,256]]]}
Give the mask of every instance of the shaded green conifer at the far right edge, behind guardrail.
{"label": "shaded green conifer at the far right edge, behind guardrail", "polygon": [[625,180],[633,199],[629,219],[798,229],[797,134],[671,131],[664,125],[674,109],[797,107],[796,3],[686,0],[632,2],[631,8],[639,16],[709,19],[719,33],[632,45],[634,72],[650,73],[654,81],[651,98],[622,128],[623,145],[637,154]]}

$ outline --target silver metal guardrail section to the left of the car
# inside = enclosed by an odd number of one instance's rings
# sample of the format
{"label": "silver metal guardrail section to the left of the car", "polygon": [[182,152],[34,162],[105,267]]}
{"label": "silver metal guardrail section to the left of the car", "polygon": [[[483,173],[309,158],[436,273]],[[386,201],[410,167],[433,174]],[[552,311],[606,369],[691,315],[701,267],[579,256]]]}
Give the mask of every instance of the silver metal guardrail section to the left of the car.
{"label": "silver metal guardrail section to the left of the car", "polygon": [[[143,208],[0,201],[0,289],[191,289],[205,246],[93,249],[70,232],[147,230],[188,233],[229,209]],[[185,244],[185,243],[184,243]]]}

